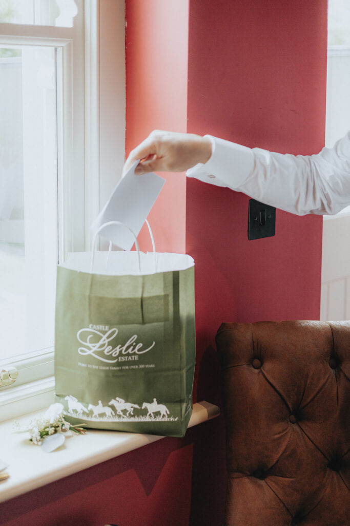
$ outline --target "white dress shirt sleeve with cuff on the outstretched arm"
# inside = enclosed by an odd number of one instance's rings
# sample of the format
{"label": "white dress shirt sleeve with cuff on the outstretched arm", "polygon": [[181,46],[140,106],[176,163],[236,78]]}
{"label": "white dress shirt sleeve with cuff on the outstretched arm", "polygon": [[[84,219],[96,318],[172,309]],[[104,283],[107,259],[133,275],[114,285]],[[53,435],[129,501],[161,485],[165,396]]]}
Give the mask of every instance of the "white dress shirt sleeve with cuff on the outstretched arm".
{"label": "white dress shirt sleeve with cuff on the outstretched arm", "polygon": [[211,157],[187,170],[292,214],[336,214],[350,205],[350,131],[316,155],[272,153],[206,135]]}

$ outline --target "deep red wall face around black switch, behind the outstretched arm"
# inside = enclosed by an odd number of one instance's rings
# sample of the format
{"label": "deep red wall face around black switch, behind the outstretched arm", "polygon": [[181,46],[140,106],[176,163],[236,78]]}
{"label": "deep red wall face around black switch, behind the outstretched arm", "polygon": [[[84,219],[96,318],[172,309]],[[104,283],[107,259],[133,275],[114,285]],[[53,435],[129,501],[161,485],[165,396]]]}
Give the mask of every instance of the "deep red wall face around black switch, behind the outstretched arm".
{"label": "deep red wall face around black switch, behind the outstretched arm", "polygon": [[[325,90],[326,0],[190,3],[189,132],[317,153]],[[248,241],[248,201],[187,181],[198,361],[221,321],[319,319],[322,218],[277,210],[275,236]]]}

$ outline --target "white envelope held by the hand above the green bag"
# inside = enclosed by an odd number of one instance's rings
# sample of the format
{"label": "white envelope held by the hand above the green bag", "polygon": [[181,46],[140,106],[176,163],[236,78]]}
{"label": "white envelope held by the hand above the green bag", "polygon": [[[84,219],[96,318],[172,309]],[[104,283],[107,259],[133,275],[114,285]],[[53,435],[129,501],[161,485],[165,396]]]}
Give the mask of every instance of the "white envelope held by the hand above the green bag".
{"label": "white envelope held by the hand above the green bag", "polygon": [[[109,221],[120,221],[131,228],[136,237],[139,235],[145,219],[163,188],[165,179],[153,172],[135,175],[138,164],[139,161],[135,161],[116,185],[111,197],[91,226],[94,231]],[[123,250],[131,250],[135,242],[130,230],[121,225],[109,225],[103,228],[100,236],[112,241]]]}

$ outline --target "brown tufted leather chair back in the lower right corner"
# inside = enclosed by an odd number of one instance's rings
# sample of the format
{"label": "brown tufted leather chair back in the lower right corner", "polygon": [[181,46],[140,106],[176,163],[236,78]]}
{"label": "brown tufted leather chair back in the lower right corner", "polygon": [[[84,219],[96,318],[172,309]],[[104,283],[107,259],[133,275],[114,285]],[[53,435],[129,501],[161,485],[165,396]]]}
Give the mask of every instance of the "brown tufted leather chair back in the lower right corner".
{"label": "brown tufted leather chair back in the lower right corner", "polygon": [[350,525],[350,322],[223,323],[230,526]]}

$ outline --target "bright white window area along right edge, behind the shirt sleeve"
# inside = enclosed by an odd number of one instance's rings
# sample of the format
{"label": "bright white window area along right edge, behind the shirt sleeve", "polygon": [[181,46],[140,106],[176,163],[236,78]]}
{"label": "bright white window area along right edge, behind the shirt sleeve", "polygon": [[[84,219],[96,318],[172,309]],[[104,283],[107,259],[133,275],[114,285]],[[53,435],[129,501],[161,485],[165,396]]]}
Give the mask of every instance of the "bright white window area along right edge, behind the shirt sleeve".
{"label": "bright white window area along right edge, behind the shirt sleeve", "polygon": [[[325,145],[350,129],[350,3],[328,0]],[[350,207],[323,218],[321,319],[350,318]]]}

